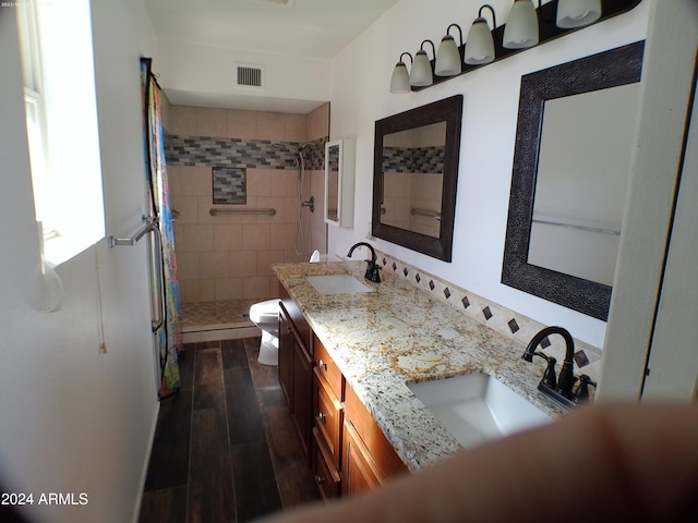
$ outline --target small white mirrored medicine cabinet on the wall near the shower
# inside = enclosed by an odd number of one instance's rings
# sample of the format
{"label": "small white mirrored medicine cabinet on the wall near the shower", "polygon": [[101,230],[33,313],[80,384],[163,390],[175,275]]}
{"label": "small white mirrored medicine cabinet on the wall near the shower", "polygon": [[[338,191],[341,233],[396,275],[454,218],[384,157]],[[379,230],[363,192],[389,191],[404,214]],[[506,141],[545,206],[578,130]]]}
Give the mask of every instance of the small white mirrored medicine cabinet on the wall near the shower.
{"label": "small white mirrored medicine cabinet on the wall near the shower", "polygon": [[353,226],[354,143],[337,139],[325,144],[325,222]]}

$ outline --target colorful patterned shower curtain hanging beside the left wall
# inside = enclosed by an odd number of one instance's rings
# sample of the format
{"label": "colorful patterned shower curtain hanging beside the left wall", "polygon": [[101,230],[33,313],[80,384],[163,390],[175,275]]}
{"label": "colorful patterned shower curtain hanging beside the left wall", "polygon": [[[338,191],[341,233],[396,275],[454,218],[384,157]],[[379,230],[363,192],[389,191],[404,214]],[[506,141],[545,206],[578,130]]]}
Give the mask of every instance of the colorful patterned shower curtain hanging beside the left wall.
{"label": "colorful patterned shower curtain hanging beside the left wall", "polygon": [[[178,352],[182,350],[178,319],[181,314],[177,258],[174,257],[174,229],[170,208],[170,193],[165,167],[165,133],[160,107],[160,88],[151,71],[152,60],[141,59],[141,87],[143,99],[143,130],[145,139],[145,178],[151,198],[152,215],[158,218],[163,238],[163,273],[165,276],[165,323],[159,333],[160,399],[179,390]],[[160,282],[154,282],[160,285]]]}

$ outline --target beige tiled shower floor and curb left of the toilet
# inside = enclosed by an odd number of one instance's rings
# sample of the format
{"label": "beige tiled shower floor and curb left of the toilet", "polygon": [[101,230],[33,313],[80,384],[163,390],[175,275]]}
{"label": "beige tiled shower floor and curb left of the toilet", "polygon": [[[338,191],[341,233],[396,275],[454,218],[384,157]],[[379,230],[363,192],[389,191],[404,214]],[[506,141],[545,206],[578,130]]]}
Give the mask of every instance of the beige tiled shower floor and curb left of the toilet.
{"label": "beige tiled shower floor and curb left of the toilet", "polygon": [[183,303],[181,330],[184,343],[230,340],[257,336],[250,306],[260,300],[220,300]]}

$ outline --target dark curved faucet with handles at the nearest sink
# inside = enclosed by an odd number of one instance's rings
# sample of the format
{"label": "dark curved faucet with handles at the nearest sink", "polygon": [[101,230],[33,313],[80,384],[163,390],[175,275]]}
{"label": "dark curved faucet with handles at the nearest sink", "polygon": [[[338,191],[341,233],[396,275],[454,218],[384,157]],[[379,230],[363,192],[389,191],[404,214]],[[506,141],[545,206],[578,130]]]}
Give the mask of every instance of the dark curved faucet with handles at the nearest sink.
{"label": "dark curved faucet with handles at the nearest sink", "polygon": [[[565,339],[565,361],[563,362],[563,367],[559,370],[559,376],[557,378],[555,378],[556,360],[543,354],[542,352],[535,352],[535,348],[538,348],[543,338],[549,335],[561,335]],[[586,401],[589,398],[589,385],[593,387],[597,386],[589,376],[582,374],[579,378],[580,385],[578,389],[576,391],[573,390],[575,381],[577,381],[577,378],[575,378],[574,375],[574,355],[575,340],[569,331],[563,327],[552,326],[545,327],[543,330],[538,332],[531,339],[526,348],[526,352],[524,352],[524,355],[521,356],[529,363],[533,361],[533,356],[541,356],[547,362],[547,367],[543,374],[543,379],[541,379],[541,382],[538,385],[538,389],[567,408],[571,408],[576,403]]]}

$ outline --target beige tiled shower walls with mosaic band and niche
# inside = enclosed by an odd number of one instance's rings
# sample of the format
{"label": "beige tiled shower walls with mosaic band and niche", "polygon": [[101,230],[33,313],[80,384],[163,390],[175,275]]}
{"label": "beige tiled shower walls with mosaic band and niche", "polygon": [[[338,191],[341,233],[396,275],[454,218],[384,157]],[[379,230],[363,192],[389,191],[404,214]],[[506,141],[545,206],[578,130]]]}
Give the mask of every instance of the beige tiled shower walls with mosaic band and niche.
{"label": "beige tiled shower walls with mosaic band and niche", "polygon": [[[182,302],[277,296],[272,264],[308,260],[314,250],[325,253],[327,248],[322,209],[329,105],[305,115],[183,106],[165,109],[170,197],[179,211],[174,242]],[[315,212],[302,209],[304,251],[298,255],[299,170],[293,151],[300,144],[309,144],[303,148],[302,200],[312,194]],[[221,187],[226,180],[230,185]],[[212,208],[273,208],[276,215],[212,216]]]}

